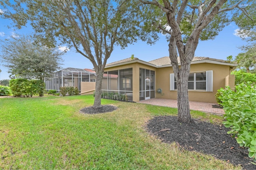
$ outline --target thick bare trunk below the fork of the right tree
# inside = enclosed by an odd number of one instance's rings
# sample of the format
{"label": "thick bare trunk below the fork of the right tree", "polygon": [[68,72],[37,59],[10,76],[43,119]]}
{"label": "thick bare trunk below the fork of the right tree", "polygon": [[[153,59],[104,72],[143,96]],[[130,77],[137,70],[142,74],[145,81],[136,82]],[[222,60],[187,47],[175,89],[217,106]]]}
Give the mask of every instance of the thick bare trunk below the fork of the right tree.
{"label": "thick bare trunk below the fork of the right tree", "polygon": [[190,109],[188,101],[188,76],[190,65],[180,69],[177,78],[177,101],[178,101],[178,121],[190,122]]}

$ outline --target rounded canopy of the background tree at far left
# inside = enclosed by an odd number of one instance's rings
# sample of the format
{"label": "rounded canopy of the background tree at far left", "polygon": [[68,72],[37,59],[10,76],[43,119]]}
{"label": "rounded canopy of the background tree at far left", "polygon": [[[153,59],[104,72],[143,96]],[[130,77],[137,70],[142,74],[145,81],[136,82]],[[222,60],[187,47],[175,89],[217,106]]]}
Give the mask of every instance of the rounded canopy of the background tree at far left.
{"label": "rounded canopy of the background tree at far left", "polygon": [[30,36],[2,41],[0,59],[11,76],[40,79],[60,69],[62,52],[33,42]]}

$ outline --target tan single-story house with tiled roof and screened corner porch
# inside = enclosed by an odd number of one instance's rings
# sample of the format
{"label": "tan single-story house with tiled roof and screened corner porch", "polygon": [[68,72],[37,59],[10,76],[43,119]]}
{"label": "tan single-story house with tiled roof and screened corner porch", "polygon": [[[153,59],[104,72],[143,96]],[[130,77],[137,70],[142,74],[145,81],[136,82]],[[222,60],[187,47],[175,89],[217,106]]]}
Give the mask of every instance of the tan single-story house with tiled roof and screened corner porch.
{"label": "tan single-story house with tiled roof and screened corner porch", "polygon": [[[178,58],[179,61],[179,58]],[[216,103],[215,94],[221,87],[234,88],[234,75],[230,75],[237,63],[209,57],[194,57],[188,78],[190,101]],[[177,99],[176,79],[169,57],[152,61],[128,58],[106,64],[102,81],[103,91],[126,94],[130,101],[152,98]],[[116,80],[113,80],[115,75]]]}

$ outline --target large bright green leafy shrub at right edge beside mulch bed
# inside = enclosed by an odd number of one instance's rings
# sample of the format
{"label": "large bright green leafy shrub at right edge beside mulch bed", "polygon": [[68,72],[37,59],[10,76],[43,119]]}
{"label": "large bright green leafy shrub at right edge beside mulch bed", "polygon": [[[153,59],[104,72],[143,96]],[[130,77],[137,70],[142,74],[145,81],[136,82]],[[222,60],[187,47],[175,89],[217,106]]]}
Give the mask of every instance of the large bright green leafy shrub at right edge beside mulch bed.
{"label": "large bright green leafy shrub at right edge beside mulch bed", "polygon": [[240,146],[248,147],[249,157],[256,161],[256,87],[247,82],[236,85],[235,91],[226,88],[218,90],[225,110],[223,124],[231,128],[228,134],[237,136]]}

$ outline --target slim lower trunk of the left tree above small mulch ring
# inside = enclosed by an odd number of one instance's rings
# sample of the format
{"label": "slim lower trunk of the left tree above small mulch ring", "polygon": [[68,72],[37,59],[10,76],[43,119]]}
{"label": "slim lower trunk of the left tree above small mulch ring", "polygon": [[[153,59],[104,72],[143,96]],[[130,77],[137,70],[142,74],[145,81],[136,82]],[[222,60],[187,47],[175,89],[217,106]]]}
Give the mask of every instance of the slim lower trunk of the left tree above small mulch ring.
{"label": "slim lower trunk of the left tree above small mulch ring", "polygon": [[93,107],[95,109],[98,109],[101,106],[102,78],[103,78],[103,71],[99,69],[98,71],[96,71],[95,98],[94,98],[94,104],[93,104]]}

